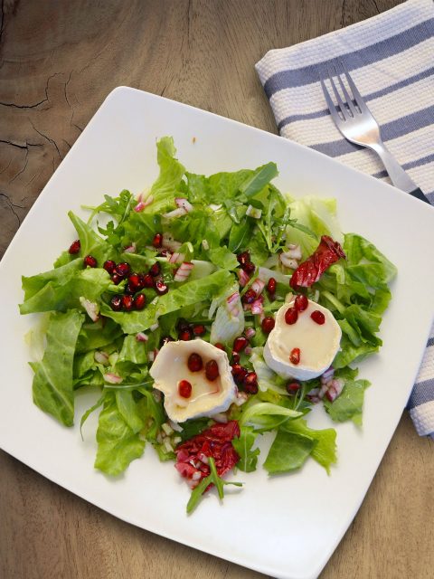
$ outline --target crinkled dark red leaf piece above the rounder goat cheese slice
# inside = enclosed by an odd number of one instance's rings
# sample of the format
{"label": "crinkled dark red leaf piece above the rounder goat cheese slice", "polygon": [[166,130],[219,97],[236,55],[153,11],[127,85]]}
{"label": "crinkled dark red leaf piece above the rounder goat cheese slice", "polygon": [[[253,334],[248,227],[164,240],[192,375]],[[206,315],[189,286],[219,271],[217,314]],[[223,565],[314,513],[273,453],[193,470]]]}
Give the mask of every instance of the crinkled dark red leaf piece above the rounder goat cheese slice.
{"label": "crinkled dark red leaf piece above the rounder goat cheese slice", "polygon": [[310,288],[341,257],[346,258],[341,245],[328,235],[323,235],[315,252],[294,271],[289,285],[291,288]]}

